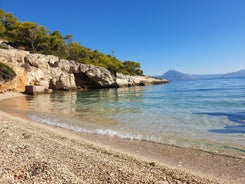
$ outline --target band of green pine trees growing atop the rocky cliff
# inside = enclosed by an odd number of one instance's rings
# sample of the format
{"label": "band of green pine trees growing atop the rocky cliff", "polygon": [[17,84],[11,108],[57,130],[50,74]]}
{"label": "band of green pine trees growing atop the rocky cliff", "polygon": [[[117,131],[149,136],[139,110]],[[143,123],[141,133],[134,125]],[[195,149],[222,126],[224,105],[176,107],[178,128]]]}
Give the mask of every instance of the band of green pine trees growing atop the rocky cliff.
{"label": "band of green pine trees growing atop the rocky cliff", "polygon": [[0,37],[7,39],[15,48],[105,67],[112,73],[143,74],[139,62],[122,62],[112,55],[73,42],[70,34],[63,36],[59,31],[50,32],[36,23],[18,21],[14,15],[3,10],[0,10]]}

